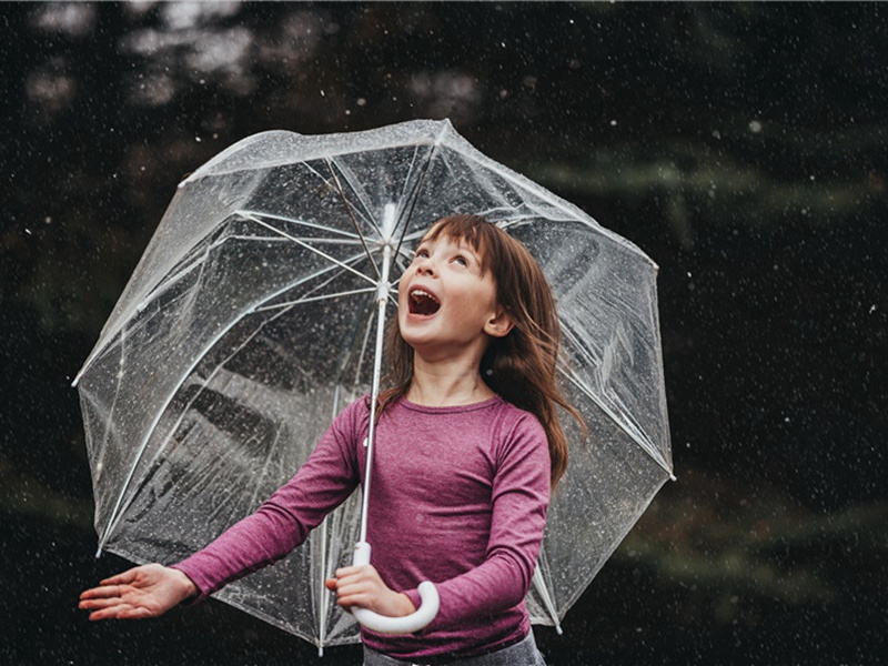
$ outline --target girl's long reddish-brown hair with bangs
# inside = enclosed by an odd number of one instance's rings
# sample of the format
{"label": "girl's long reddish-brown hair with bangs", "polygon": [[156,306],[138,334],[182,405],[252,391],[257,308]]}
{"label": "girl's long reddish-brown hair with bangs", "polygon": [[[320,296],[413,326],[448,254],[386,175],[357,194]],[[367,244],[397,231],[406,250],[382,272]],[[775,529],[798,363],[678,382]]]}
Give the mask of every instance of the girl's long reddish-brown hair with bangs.
{"label": "girl's long reddish-brown hair with bangs", "polygon": [[[558,421],[561,406],[579,424],[579,412],[561,394],[556,366],[561,325],[555,297],[543,270],[527,249],[481,215],[453,215],[435,222],[425,240],[446,235],[470,243],[492,271],[497,304],[514,322],[504,337],[491,337],[481,360],[481,376],[495,393],[539,420],[548,440],[553,490],[567,470],[567,437]],[[390,386],[380,396],[380,412],[405,395],[413,379],[413,349],[401,336],[397,317],[389,324]]]}

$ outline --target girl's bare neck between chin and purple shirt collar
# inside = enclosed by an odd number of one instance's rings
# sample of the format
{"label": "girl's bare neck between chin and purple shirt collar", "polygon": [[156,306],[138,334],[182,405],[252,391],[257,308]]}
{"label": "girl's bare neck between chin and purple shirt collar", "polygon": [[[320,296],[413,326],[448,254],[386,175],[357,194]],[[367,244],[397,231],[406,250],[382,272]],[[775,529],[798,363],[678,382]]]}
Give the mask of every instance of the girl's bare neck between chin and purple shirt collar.
{"label": "girl's bare neck between chin and purple shirt collar", "polygon": [[496,395],[481,379],[476,364],[427,363],[413,360],[413,380],[406,398],[427,407],[448,407],[484,402]]}

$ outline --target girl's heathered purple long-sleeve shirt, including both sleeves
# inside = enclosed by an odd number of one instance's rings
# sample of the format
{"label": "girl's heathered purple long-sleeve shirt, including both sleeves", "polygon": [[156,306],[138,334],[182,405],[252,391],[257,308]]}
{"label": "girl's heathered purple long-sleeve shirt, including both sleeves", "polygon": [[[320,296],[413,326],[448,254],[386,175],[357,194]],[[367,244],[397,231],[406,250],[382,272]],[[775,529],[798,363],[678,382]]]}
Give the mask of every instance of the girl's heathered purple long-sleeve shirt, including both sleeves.
{"label": "girl's heathered purple long-sleeve shirt, including both sleeves", "polygon": [[[365,400],[346,407],[256,513],[173,566],[205,596],[290,553],[363,480],[367,422]],[[460,657],[526,636],[524,597],[549,497],[548,445],[536,417],[501,397],[451,407],[402,398],[376,428],[371,484],[373,565],[416,607],[416,586],[432,581],[441,609],[417,634],[364,629],[369,647],[407,660]]]}

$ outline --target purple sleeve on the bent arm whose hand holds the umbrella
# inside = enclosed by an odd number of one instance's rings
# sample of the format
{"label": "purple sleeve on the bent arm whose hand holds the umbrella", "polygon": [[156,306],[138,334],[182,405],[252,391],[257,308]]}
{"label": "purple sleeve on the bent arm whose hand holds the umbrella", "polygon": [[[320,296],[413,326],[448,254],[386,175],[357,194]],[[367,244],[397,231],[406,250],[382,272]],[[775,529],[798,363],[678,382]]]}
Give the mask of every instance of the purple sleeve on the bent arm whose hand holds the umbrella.
{"label": "purple sleeve on the bent arm whose hand holds the umbrella", "polygon": [[[548,442],[533,415],[523,414],[513,425],[497,458],[485,559],[465,574],[436,584],[441,609],[420,635],[513,608],[531,588],[551,485]],[[420,607],[416,589],[404,594]]]}

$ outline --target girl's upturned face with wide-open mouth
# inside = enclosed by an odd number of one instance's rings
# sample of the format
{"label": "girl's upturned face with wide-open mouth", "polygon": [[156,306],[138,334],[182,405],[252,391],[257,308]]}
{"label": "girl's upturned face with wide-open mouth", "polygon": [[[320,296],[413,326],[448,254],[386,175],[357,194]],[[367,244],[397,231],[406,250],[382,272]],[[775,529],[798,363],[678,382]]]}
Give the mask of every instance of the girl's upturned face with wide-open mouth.
{"label": "girl's upturned face with wide-open mouth", "polygon": [[[398,326],[404,341],[426,357],[481,355],[491,335],[511,329],[496,303],[492,272],[464,240],[426,239],[397,286]],[[505,331],[503,332],[503,329]]]}

